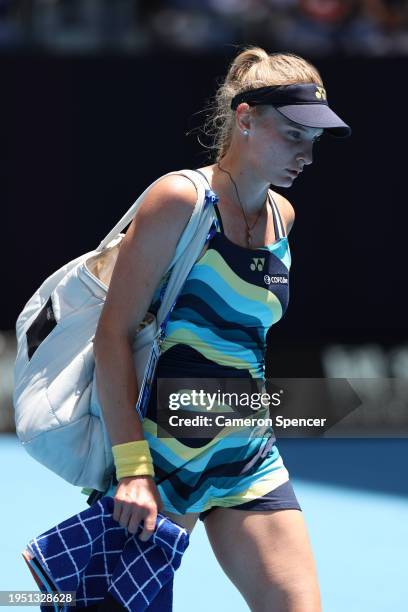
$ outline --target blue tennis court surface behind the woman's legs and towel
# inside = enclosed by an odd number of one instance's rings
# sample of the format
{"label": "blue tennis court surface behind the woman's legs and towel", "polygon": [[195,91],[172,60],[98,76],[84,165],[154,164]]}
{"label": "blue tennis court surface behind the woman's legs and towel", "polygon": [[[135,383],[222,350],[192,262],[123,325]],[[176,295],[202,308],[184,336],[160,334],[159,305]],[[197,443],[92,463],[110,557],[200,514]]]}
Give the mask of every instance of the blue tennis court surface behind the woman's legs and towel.
{"label": "blue tennis court surface behind the woman's legs and towel", "polygon": [[[408,440],[278,445],[308,525],[324,612],[406,610]],[[85,509],[86,497],[31,459],[13,435],[0,436],[0,461],[0,589],[36,590],[21,550],[33,536]],[[174,612],[210,609],[244,612],[248,606],[219,567],[200,523],[176,574]]]}

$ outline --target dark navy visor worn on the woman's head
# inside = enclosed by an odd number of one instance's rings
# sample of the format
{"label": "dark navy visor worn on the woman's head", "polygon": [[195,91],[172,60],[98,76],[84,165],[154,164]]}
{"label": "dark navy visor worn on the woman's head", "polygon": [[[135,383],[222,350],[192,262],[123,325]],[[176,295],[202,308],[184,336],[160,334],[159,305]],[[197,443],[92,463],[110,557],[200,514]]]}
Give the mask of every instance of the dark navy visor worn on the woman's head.
{"label": "dark navy visor worn on the woman's head", "polygon": [[231,101],[235,110],[241,102],[250,106],[269,104],[284,117],[305,127],[322,128],[328,134],[345,138],[351,128],[327,103],[326,90],[315,83],[259,87],[237,94]]}

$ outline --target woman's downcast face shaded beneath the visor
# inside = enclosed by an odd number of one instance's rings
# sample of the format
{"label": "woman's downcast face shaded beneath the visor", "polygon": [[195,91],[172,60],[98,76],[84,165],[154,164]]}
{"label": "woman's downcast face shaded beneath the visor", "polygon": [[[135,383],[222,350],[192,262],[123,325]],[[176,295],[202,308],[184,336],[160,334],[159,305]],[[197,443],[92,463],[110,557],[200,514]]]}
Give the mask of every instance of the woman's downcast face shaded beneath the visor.
{"label": "woman's downcast face shaded beneath the visor", "polygon": [[320,128],[290,121],[272,106],[253,112],[247,136],[249,161],[260,178],[277,187],[290,187],[303,167],[313,161]]}

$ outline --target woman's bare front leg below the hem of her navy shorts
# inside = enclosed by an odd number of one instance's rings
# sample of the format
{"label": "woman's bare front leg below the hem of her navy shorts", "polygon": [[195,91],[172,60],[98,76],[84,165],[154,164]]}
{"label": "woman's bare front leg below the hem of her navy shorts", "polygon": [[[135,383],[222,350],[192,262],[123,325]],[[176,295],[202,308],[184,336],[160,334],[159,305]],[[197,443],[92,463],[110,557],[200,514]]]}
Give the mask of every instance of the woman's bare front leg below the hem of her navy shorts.
{"label": "woman's bare front leg below the hem of her navy shorts", "polygon": [[321,612],[302,512],[216,508],[204,524],[218,562],[253,612]]}

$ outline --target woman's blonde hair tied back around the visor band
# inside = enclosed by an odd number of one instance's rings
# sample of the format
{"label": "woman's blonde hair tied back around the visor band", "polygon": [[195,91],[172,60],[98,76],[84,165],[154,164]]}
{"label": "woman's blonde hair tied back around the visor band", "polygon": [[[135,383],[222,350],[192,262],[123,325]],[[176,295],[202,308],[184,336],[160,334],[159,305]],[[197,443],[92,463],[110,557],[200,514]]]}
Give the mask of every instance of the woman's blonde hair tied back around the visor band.
{"label": "woman's blonde hair tied back around the visor band", "polygon": [[[224,82],[219,86],[203,131],[213,139],[207,148],[216,151],[215,159],[224,157],[231,144],[235,123],[232,98],[243,91],[268,85],[292,85],[316,83],[323,85],[317,69],[308,61],[293,53],[268,54],[260,47],[248,47],[231,63]],[[256,107],[258,112],[262,107]],[[206,146],[206,145],[205,145]]]}

